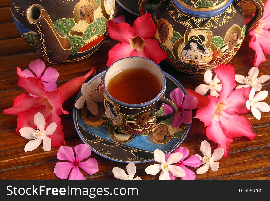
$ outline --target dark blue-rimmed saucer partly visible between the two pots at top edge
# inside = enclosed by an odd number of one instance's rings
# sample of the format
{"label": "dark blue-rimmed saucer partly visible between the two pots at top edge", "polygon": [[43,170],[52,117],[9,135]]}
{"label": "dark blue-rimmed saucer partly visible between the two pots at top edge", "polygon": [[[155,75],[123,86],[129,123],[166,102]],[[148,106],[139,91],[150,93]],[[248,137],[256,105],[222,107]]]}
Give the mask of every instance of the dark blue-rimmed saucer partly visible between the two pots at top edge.
{"label": "dark blue-rimmed saucer partly visible between the two pots at top edge", "polygon": [[[140,16],[140,11],[138,9],[138,0],[115,0],[123,9],[128,11],[129,13],[132,13],[134,15]],[[160,1],[157,0],[150,0],[146,2],[146,10],[151,15],[154,14],[158,4]]]}

